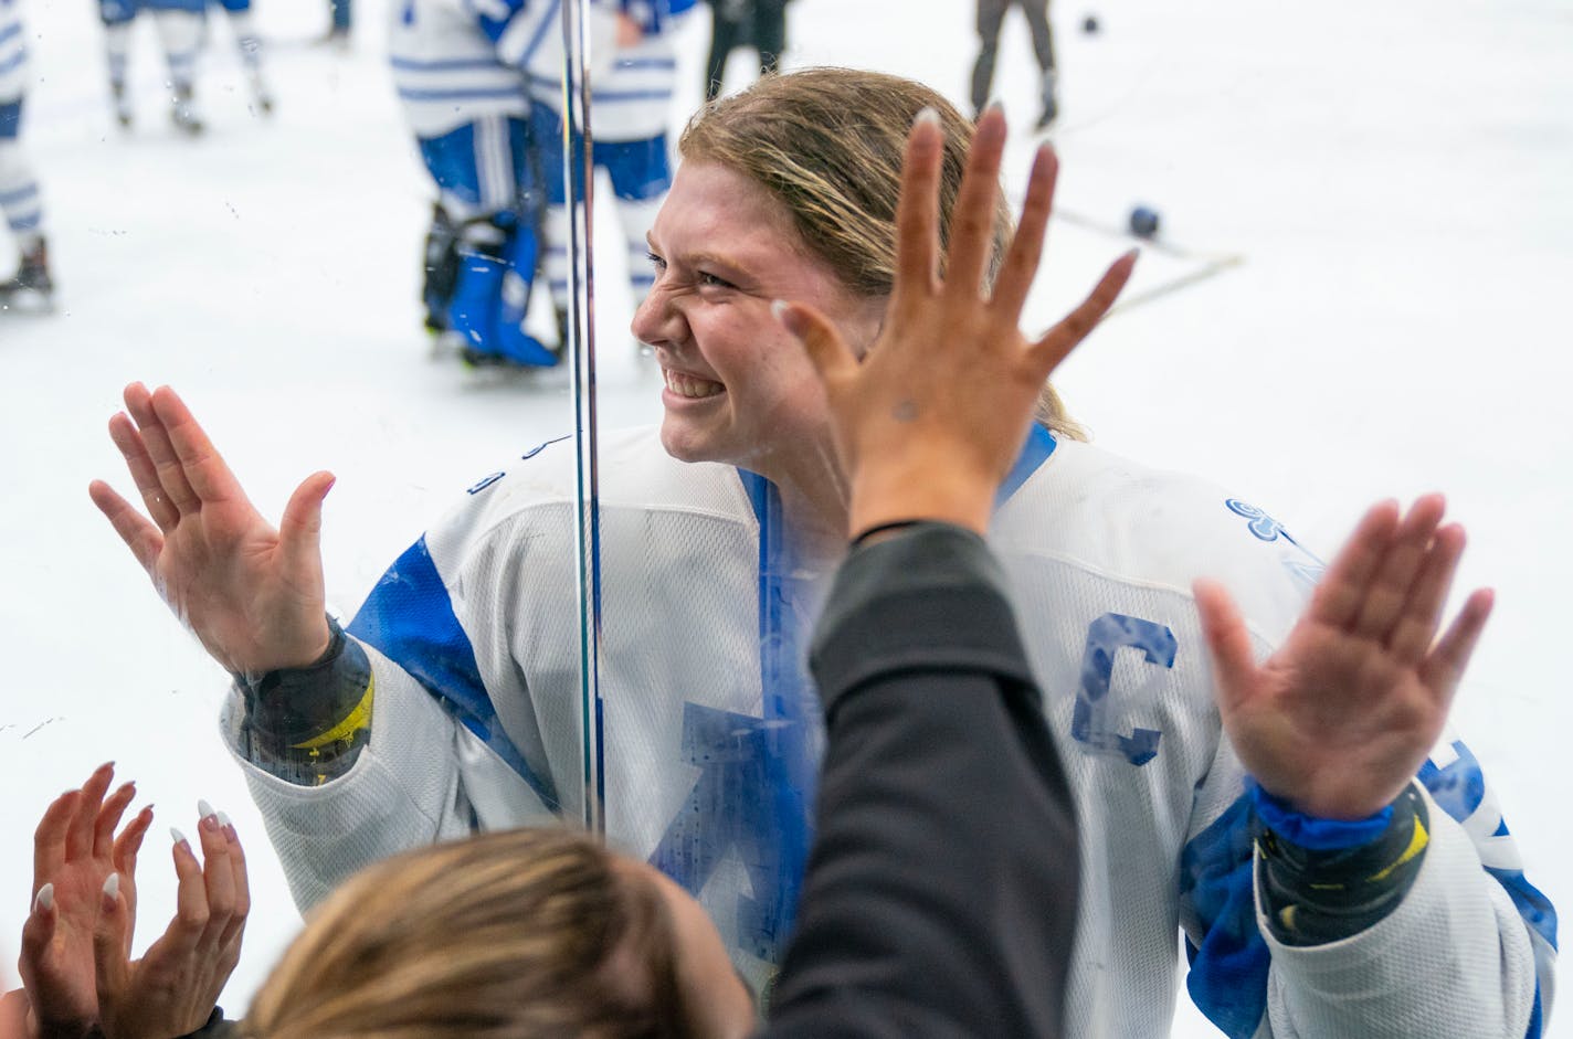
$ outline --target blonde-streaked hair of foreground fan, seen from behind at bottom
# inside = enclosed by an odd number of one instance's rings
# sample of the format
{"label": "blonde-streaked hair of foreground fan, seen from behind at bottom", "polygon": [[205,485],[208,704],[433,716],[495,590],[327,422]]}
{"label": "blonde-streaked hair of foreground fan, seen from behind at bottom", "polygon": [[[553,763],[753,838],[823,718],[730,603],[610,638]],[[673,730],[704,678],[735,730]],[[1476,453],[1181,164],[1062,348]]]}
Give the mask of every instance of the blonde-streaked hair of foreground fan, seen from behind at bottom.
{"label": "blonde-streaked hair of foreground fan, seen from behind at bottom", "polygon": [[566,828],[384,860],[308,920],[253,1039],[665,1039],[689,1033],[654,885]]}

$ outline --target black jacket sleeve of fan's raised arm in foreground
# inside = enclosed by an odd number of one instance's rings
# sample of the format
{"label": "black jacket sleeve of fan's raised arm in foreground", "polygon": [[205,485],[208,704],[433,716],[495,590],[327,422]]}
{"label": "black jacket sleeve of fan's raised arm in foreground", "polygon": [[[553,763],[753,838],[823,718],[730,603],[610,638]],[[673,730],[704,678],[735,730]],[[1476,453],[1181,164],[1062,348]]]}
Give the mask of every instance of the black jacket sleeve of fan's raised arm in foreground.
{"label": "black jacket sleeve of fan's raised arm in foreground", "polygon": [[764,1034],[1059,1036],[1076,824],[983,541],[854,550],[812,663],[818,836]]}

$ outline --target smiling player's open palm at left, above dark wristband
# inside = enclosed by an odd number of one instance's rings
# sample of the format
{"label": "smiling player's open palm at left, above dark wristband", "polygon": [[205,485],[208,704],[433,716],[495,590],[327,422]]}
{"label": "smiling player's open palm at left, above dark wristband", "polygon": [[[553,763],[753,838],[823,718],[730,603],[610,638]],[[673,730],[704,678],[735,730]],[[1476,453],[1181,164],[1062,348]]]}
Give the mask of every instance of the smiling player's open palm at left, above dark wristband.
{"label": "smiling player's open palm at left, above dark wristband", "polygon": [[93,503],[214,660],[255,674],[321,657],[330,632],[319,534],[333,476],[308,476],[274,528],[168,387],[126,387],[109,432],[148,516],[104,481],[88,487]]}

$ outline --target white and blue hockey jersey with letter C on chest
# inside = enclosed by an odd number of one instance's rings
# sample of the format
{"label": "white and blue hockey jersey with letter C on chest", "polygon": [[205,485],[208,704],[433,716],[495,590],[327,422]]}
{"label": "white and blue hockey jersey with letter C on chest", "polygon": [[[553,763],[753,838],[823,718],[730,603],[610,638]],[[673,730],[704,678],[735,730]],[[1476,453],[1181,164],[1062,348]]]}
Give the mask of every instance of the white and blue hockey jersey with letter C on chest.
{"label": "white and blue hockey jersey with letter C on chest", "polygon": [[[810,839],[820,737],[801,657],[832,561],[793,556],[766,481],[676,462],[654,431],[604,437],[601,703],[584,712],[574,487],[573,445],[544,445],[390,567],[349,627],[376,693],[346,775],[299,788],[241,764],[305,907],[411,846],[577,816],[588,717],[610,839],[692,890],[758,979]],[[1191,995],[1229,1036],[1540,1034],[1556,915],[1463,743],[1420,773],[1435,832],[1397,910],[1312,948],[1258,926],[1244,775],[1189,588],[1222,580],[1268,652],[1321,571],[1277,522],[1040,431],[991,544],[1082,828],[1066,1034],[1166,1034],[1180,932]],[[231,747],[239,710],[231,698]]]}

